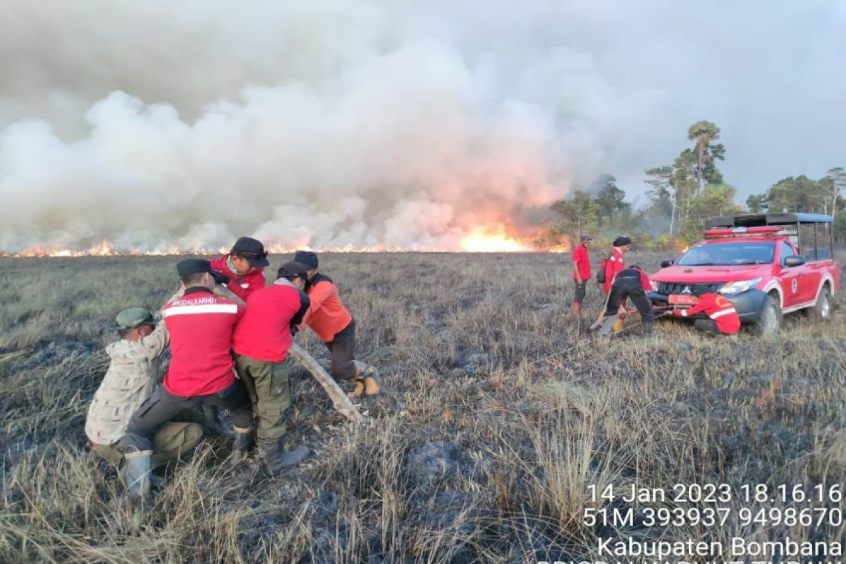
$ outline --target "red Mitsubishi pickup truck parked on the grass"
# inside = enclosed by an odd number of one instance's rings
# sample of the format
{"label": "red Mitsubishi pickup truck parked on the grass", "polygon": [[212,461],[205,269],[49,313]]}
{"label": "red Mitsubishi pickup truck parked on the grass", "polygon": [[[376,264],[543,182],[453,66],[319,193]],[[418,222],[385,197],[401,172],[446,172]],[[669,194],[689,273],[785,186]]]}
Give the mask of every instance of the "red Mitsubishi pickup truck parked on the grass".
{"label": "red Mitsubishi pickup truck parked on the grass", "polygon": [[698,290],[721,293],[744,325],[765,335],[778,332],[782,314],[799,309],[827,320],[840,285],[833,248],[831,216],[717,217],[706,222],[704,241],[662,261],[650,277],[650,298],[677,309],[695,304]]}

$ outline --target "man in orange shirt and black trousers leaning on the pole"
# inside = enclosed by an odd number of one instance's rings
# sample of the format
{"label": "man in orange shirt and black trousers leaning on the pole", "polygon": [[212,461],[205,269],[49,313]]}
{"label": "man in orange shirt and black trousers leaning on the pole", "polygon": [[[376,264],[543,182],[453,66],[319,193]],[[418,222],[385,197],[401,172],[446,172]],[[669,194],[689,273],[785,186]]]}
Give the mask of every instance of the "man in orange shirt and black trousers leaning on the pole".
{"label": "man in orange shirt and black trousers leaning on the pole", "polygon": [[332,278],[318,268],[317,255],[308,250],[298,250],[294,261],[308,269],[305,292],[311,305],[303,318],[303,325],[315,331],[332,355],[330,372],[336,380],[352,380],[355,387],[349,397],[362,393],[373,396],[379,393],[379,370],[372,364],[354,359],[355,320],[343,307],[338,287]]}

